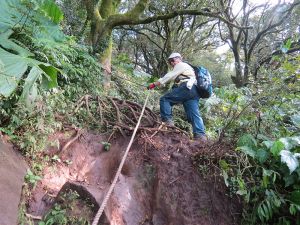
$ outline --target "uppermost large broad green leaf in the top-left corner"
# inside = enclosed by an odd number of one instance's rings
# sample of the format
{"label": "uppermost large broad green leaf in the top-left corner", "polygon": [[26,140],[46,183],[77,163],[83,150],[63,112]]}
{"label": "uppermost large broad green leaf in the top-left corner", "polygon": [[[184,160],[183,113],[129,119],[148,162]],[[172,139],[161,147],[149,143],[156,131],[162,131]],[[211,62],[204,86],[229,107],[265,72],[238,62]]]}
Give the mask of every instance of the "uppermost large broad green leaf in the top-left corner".
{"label": "uppermost large broad green leaf in the top-left corner", "polygon": [[53,0],[0,1],[0,31],[22,27],[39,41],[63,41],[63,13]]}

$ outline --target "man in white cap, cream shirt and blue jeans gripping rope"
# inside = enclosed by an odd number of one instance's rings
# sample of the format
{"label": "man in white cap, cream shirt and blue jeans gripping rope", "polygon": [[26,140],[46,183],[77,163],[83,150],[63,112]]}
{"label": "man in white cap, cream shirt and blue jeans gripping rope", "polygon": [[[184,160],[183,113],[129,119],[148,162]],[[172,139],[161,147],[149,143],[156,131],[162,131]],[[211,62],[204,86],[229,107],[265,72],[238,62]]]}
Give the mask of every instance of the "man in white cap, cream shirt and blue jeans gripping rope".
{"label": "man in white cap, cream shirt and blue jeans gripping rope", "polygon": [[168,58],[168,63],[173,70],[148,86],[148,89],[153,89],[165,85],[169,81],[174,81],[172,89],[160,98],[161,120],[167,125],[174,126],[172,106],[182,103],[187,119],[192,124],[194,139],[206,141],[205,127],[199,112],[200,96],[195,85],[194,69],[182,61],[179,53],[172,53]]}

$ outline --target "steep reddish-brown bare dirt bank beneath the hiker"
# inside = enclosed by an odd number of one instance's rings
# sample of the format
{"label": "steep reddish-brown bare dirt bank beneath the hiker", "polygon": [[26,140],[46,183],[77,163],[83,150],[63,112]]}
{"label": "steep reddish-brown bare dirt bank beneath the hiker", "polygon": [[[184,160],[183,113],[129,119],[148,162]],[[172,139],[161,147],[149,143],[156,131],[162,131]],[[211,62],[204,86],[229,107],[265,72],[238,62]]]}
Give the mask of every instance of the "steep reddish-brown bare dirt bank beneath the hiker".
{"label": "steep reddish-brown bare dirt bank beneath the hiker", "polygon": [[[153,134],[153,133],[152,133]],[[60,162],[44,171],[29,202],[28,212],[43,216],[66,189],[77,190],[95,205],[94,214],[107,192],[130,137],[116,137],[105,151],[108,137],[85,133],[57,154]],[[70,137],[52,137],[63,146]],[[176,133],[139,134],[121,176],[105,208],[100,224],[128,225],[232,225],[238,224],[239,205],[225,194],[223,181],[202,177],[193,166],[198,152],[213,153],[214,146],[201,146]]]}

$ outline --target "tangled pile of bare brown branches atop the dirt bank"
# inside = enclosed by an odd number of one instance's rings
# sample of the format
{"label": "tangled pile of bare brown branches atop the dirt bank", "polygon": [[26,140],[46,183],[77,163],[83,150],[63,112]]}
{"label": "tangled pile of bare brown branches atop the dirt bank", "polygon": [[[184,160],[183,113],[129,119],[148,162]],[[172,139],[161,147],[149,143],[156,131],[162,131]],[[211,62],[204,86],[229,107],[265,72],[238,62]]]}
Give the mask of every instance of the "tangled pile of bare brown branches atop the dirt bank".
{"label": "tangled pile of bare brown branches atop the dirt bank", "polygon": [[[85,95],[76,103],[72,115],[77,115],[80,109],[85,109],[93,123],[100,124],[107,130],[118,130],[123,136],[133,131],[142,106],[138,103],[111,97],[93,97]],[[158,132],[176,132],[188,135],[187,132],[160,122],[159,117],[146,107],[141,126],[138,128],[146,136],[154,136]],[[146,133],[145,133],[146,132]]]}

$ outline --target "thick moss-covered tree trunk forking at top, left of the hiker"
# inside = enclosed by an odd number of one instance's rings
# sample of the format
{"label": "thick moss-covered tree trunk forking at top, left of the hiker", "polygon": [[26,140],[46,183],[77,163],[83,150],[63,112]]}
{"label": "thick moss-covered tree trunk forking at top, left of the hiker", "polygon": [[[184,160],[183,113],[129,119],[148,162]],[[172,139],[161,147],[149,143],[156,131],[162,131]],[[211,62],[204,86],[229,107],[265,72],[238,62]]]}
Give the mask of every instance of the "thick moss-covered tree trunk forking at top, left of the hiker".
{"label": "thick moss-covered tree trunk forking at top, left of the hiker", "polygon": [[104,88],[111,80],[112,30],[116,26],[131,24],[145,10],[149,0],[139,0],[130,11],[118,14],[121,0],[84,0],[91,21],[90,41],[105,70]]}

